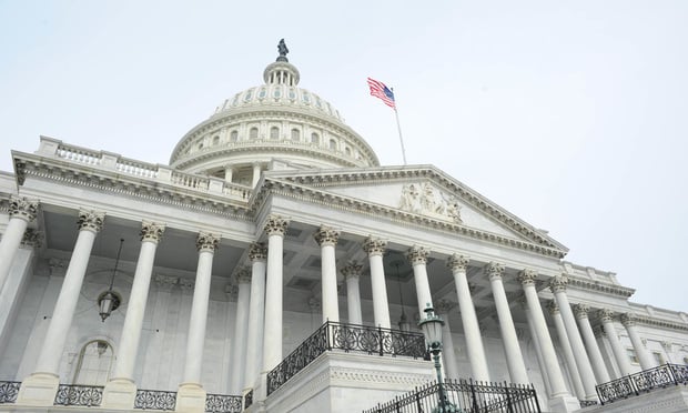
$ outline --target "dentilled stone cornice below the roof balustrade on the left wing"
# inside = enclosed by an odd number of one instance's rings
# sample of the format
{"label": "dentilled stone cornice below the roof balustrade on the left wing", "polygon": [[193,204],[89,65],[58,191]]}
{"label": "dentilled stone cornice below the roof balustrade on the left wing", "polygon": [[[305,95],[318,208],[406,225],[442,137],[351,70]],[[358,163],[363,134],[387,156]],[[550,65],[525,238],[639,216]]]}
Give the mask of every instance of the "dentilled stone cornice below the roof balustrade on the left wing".
{"label": "dentilled stone cornice below the roof balustrade on the left wing", "polygon": [[129,177],[117,171],[110,172],[90,168],[88,164],[81,165],[59,159],[32,158],[34,155],[14,152],[14,164],[20,185],[23,184],[27,177],[33,177],[39,180],[55,181],[71,187],[90,188],[144,201],[222,214],[237,220],[253,221],[247,203],[233,199],[214,195],[204,191],[178,188],[146,178]]}

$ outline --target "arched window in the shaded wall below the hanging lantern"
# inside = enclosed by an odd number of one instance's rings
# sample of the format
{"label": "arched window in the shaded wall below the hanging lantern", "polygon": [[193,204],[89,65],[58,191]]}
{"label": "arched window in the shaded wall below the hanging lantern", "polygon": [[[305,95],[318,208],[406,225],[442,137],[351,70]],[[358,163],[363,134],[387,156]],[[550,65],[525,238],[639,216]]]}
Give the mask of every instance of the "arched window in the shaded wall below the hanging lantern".
{"label": "arched window in the shaded wall below the hanging lantern", "polygon": [[112,346],[104,340],[92,340],[79,353],[73,384],[105,385],[113,362]]}

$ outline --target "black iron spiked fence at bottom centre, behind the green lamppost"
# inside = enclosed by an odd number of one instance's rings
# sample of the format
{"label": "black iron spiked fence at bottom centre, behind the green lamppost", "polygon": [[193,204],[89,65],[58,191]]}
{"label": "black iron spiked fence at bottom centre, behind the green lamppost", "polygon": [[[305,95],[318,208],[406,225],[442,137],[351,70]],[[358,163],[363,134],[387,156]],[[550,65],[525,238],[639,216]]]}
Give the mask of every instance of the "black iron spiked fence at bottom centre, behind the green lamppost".
{"label": "black iron spiked fence at bottom centre, behind the green lamppost", "polygon": [[[537,394],[533,385],[483,383],[465,380],[446,380],[444,383],[445,411],[452,405],[454,412],[540,412]],[[435,412],[439,404],[437,382],[416,387],[386,403],[377,404],[363,413],[421,413]]]}

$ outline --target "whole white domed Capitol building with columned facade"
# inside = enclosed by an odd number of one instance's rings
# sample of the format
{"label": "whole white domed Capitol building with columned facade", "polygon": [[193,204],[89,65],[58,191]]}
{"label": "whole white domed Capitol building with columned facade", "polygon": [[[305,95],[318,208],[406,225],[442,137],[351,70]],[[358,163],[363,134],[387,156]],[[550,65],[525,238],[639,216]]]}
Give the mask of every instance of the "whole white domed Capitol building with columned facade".
{"label": "whole white domed Capitol building with columned facade", "polygon": [[[564,261],[435,167],[381,167],[279,51],[170,165],[45,137],[12,152],[0,412],[363,412],[435,377],[398,345],[426,303],[446,322],[447,377],[532,384],[543,411],[688,369],[688,314],[629,301],[623,274]],[[101,321],[110,290],[121,304]],[[395,344],[364,340],[381,331]],[[586,412],[680,411],[672,383]]]}

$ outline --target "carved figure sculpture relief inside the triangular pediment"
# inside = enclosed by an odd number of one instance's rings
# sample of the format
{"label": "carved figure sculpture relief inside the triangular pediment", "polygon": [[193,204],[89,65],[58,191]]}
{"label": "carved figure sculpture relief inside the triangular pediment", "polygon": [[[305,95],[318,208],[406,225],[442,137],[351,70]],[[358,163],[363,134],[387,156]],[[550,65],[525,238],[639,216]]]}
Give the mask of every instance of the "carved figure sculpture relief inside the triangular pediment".
{"label": "carved figure sculpture relief inside the triangular pediment", "polygon": [[429,182],[405,184],[402,188],[399,209],[463,223],[462,206],[456,197],[436,190]]}

